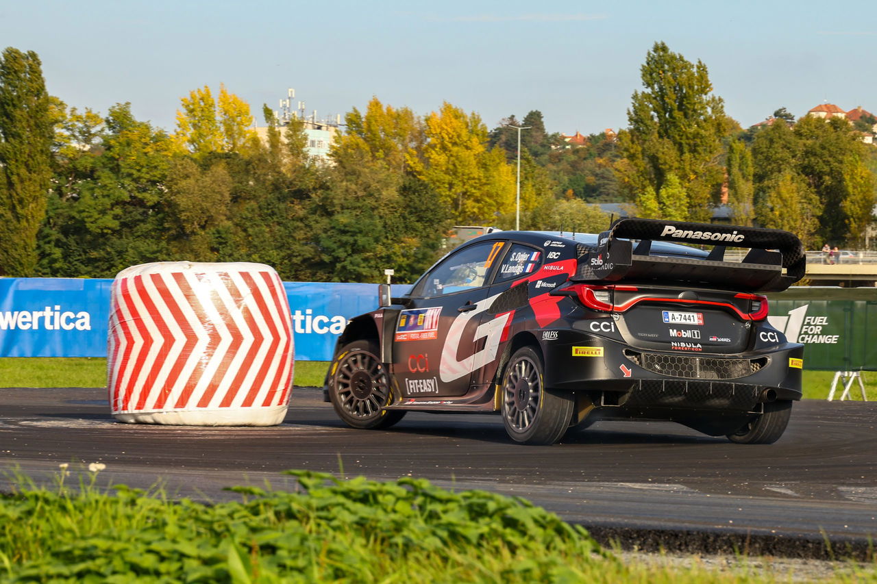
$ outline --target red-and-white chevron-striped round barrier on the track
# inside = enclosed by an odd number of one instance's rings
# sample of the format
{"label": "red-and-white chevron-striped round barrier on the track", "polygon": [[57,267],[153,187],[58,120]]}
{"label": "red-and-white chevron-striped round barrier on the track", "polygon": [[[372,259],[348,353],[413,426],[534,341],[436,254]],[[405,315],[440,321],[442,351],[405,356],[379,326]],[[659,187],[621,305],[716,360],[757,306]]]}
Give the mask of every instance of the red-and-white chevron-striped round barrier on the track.
{"label": "red-and-white chevron-striped round barrier on the track", "polygon": [[272,267],[160,262],[113,281],[107,368],[122,422],[280,424],[293,358],[289,302]]}

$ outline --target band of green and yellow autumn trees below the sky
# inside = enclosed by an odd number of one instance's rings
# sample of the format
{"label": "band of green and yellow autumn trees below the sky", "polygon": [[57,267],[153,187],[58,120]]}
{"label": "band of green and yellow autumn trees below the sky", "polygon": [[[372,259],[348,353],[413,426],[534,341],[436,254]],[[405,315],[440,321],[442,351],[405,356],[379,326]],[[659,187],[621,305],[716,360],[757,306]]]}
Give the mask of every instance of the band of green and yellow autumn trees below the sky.
{"label": "band of green and yellow autumn trees below the sky", "polygon": [[638,217],[795,231],[861,247],[873,221],[870,118],[795,119],[742,130],[709,71],[656,43],[628,127],[576,139],[539,110],[488,127],[453,103],[417,113],[377,96],[345,116],[329,160],[303,123],[264,106],[267,132],[225,86],[182,96],[174,132],[46,93],[39,57],[0,61],[0,275],[112,277],[158,260],[259,261],[292,281],[412,281],[453,225],[514,228],[520,131],[522,229],[602,231],[597,203]]}

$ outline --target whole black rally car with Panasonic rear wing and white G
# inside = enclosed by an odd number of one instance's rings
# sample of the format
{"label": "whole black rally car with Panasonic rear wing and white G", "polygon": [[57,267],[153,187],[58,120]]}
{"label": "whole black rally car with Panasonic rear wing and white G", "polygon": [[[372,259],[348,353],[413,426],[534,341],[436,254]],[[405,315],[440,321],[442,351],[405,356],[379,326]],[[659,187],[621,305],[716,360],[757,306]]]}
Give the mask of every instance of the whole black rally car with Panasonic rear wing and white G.
{"label": "whole black rally car with Panasonic rear wing and white G", "polygon": [[[728,247],[749,251],[726,260]],[[752,227],[623,219],[600,235],[490,233],[353,318],[326,394],[354,428],[409,410],[499,412],[526,444],[607,418],[769,444],[801,399],[803,345],[767,323],[758,293],[804,267],[794,235]]]}

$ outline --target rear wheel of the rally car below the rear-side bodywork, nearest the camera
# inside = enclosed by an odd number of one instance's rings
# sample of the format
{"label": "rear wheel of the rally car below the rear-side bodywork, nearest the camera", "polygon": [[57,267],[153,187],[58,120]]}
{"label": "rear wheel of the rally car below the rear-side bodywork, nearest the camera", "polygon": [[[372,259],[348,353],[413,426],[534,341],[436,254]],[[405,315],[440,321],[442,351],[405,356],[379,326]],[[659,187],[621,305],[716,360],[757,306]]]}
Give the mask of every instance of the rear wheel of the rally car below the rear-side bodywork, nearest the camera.
{"label": "rear wheel of the rally car below the rear-side bodywork, nearest the camera", "polygon": [[503,424],[515,442],[554,444],[573,417],[573,396],[546,389],[543,371],[541,355],[530,346],[518,349],[503,371]]}

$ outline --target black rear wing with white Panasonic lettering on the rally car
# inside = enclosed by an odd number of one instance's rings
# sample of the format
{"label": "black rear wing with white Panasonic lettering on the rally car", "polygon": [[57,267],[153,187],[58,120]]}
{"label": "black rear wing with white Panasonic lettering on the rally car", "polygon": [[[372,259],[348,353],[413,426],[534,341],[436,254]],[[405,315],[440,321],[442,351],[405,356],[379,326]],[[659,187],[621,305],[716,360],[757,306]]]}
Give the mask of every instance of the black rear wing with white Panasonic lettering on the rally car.
{"label": "black rear wing with white Panasonic lettering on the rally car", "polygon": [[[652,241],[715,247],[704,257],[679,257],[672,252],[653,252]],[[727,247],[751,249],[743,261],[725,261]],[[802,279],[806,264],[801,240],[788,231],[619,219],[609,231],[600,234],[595,250],[579,258],[572,280],[651,281],[741,292],[781,292]]]}

